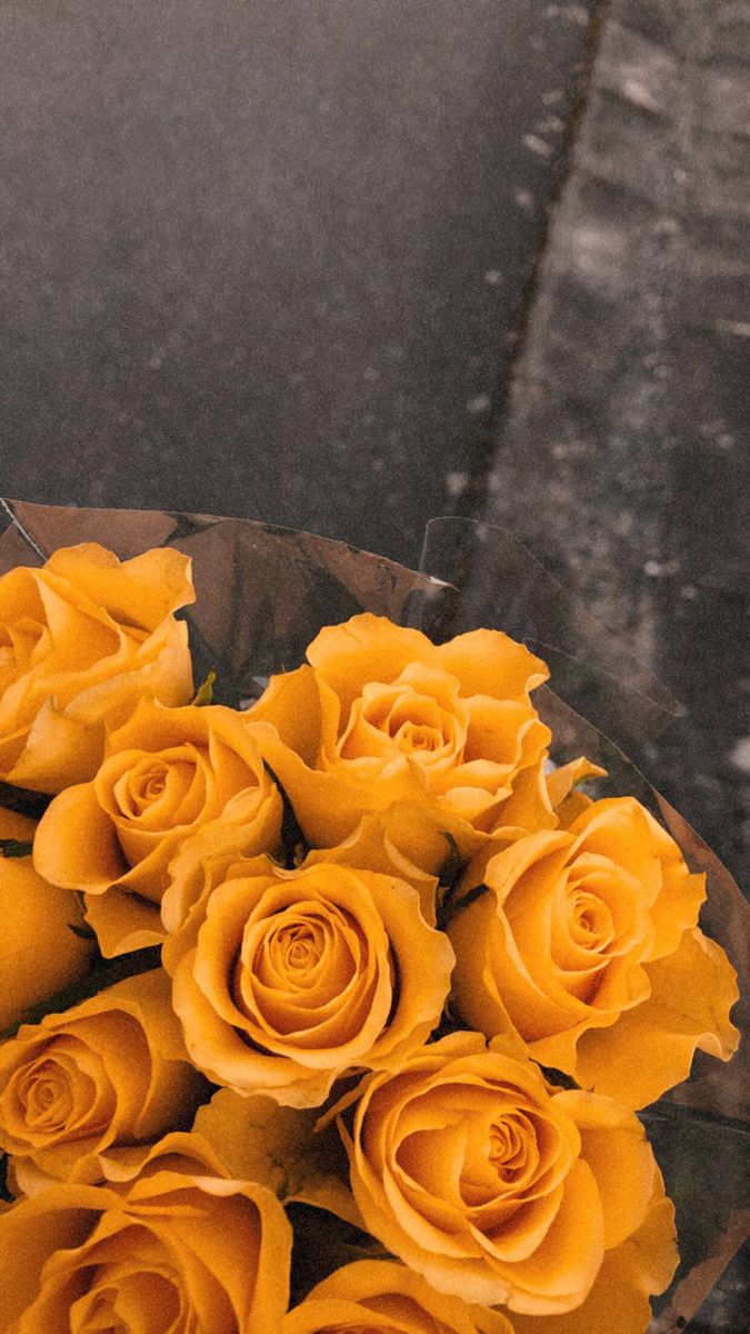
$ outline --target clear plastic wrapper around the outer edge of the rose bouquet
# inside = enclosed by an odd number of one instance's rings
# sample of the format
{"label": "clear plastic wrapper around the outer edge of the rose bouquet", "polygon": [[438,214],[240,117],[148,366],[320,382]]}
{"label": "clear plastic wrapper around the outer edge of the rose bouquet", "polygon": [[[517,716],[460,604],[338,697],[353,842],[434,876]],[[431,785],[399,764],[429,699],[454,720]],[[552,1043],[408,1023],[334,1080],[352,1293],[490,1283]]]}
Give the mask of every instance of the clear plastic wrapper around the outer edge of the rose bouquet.
{"label": "clear plastic wrapper around the outer edge of the rose bouquet", "polygon": [[[435,642],[478,627],[523,640],[551,670],[550,684],[534,699],[552,728],[552,759],[587,755],[607,770],[589,786],[593,795],[631,794],[662,820],[690,867],[706,872],[701,924],[746,983],[747,908],[737,884],[638,768],[642,743],[667,727],[679,706],[502,530],[436,519],[415,572],[312,534],[206,515],[9,500],[3,526],[0,572],[41,564],[57,547],[79,542],[99,542],[120,558],[157,546],[190,555],[196,603],[180,615],[190,627],[196,680],[214,668],[215,702],[234,707],[256,699],[272,672],[299,666],[323,626],[363,610]],[[734,1021],[745,1027],[738,1010]],[[653,1334],[742,1326],[737,1255],[749,1222],[747,1102],[741,1047],[727,1066],[698,1054],[691,1078],[642,1114],[675,1202],[681,1247],[675,1279],[655,1303]]]}

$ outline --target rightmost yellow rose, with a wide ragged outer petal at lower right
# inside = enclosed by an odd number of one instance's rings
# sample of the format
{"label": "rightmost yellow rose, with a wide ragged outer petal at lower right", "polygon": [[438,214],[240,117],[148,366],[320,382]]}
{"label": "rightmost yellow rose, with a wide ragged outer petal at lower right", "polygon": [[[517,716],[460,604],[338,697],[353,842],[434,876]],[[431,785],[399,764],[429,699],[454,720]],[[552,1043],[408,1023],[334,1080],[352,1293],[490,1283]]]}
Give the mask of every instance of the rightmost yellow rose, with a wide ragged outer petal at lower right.
{"label": "rightmost yellow rose, with a wide ragged outer petal at lower right", "polygon": [[705,878],[634,798],[519,839],[480,878],[488,892],[450,926],[472,1027],[516,1034],[535,1061],[634,1109],[685,1079],[697,1047],[731,1057],[734,970],[695,927]]}

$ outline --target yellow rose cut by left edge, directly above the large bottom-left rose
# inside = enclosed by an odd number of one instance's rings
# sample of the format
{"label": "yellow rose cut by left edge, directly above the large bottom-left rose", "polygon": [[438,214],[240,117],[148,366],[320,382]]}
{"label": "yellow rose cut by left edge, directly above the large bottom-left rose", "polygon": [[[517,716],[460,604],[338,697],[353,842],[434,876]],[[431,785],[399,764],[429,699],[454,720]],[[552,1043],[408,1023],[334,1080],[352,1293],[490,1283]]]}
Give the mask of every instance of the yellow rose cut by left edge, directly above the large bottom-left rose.
{"label": "yellow rose cut by left edge, directly above the large bottom-left rose", "polygon": [[190,1126],[204,1091],[156,968],[0,1047],[0,1147],[27,1193],[37,1174],[95,1182],[113,1146]]}

